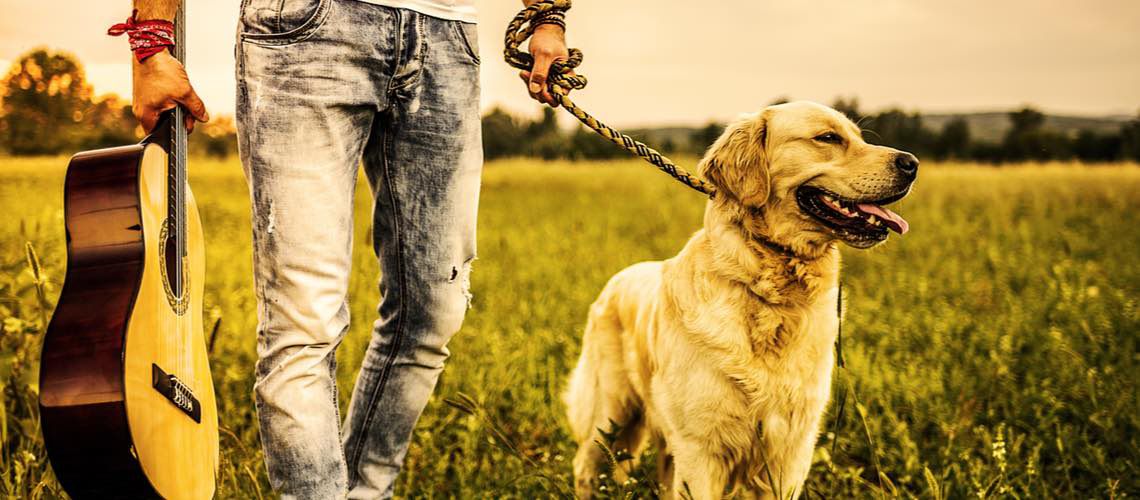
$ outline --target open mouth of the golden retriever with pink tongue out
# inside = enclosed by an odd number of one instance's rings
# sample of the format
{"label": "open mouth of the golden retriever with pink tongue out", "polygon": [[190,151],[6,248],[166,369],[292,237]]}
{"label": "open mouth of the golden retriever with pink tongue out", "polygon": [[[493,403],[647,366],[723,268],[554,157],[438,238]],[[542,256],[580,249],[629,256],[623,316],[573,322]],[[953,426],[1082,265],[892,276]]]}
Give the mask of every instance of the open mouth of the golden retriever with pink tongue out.
{"label": "open mouth of the golden retriever with pink tongue out", "polygon": [[906,220],[883,205],[897,202],[907,191],[878,199],[855,200],[815,186],[796,190],[796,202],[808,215],[820,220],[840,239],[856,248],[866,248],[887,239],[889,231],[905,235]]}

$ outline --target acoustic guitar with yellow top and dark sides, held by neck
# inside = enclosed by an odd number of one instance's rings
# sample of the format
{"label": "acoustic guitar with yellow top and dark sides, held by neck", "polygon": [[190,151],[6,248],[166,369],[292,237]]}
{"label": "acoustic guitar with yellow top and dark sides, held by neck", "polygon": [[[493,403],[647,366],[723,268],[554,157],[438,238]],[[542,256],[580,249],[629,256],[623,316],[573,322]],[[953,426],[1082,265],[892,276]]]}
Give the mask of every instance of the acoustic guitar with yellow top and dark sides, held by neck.
{"label": "acoustic guitar with yellow top and dark sides, held by neck", "polygon": [[[180,8],[179,60],[184,23]],[[40,420],[75,498],[214,493],[218,412],[186,137],[179,107],[141,144],[80,153],[67,166],[67,274],[43,342]]]}

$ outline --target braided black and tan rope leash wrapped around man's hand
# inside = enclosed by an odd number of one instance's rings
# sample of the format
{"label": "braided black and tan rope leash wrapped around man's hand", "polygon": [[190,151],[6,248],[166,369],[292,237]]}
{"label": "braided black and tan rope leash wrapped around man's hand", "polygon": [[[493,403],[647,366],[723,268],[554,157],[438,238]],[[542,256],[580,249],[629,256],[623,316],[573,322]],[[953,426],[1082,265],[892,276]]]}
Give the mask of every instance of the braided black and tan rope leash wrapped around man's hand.
{"label": "braided black and tan rope leash wrapped around man's hand", "polygon": [[[514,16],[514,19],[511,19],[511,23],[507,24],[506,38],[503,43],[505,47],[504,57],[506,59],[506,64],[519,69],[530,71],[531,66],[535,64],[535,59],[530,54],[519,50],[519,46],[535,33],[535,28],[543,24],[544,19],[548,19],[551,17],[560,19],[569,9],[570,0],[543,0],[540,2],[532,3]],[[562,25],[561,23],[555,24]],[[555,99],[559,100],[559,104],[578,118],[579,122],[588,126],[594,132],[597,132],[610,142],[613,142],[625,148],[627,151],[644,158],[646,162],[657,165],[658,169],[681,181],[681,183],[703,192],[709,197],[715,196],[716,188],[714,188],[712,185],[705,182],[697,175],[693,175],[689,173],[689,171],[677,166],[671,159],[658,153],[657,149],[645,146],[641,141],[635,140],[634,138],[617,131],[612,126],[602,123],[570,100],[570,97],[568,96],[570,90],[580,90],[586,88],[586,76],[573,73],[573,68],[581,64],[581,50],[570,49],[570,57],[568,57],[567,60],[555,62],[551,65],[551,75],[547,77],[546,84],[549,87],[551,93],[553,93]]]}

